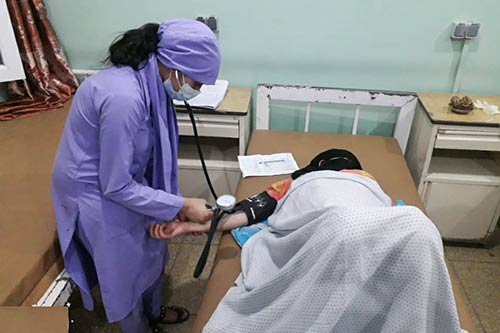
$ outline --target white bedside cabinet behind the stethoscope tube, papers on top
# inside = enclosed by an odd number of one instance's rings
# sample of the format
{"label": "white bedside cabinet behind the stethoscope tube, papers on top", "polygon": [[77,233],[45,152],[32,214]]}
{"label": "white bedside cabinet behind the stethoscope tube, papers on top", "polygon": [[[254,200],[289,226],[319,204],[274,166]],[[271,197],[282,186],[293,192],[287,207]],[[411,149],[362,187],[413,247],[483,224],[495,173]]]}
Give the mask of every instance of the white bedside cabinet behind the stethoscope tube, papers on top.
{"label": "white bedside cabinet behind the stethoscope tube, papers on top", "polygon": [[[244,155],[250,135],[252,89],[229,88],[213,112],[195,111],[195,121],[208,173],[218,195],[234,194],[241,172],[238,155]],[[213,203],[196,149],[193,128],[187,113],[178,108],[179,187],[185,197]]]}

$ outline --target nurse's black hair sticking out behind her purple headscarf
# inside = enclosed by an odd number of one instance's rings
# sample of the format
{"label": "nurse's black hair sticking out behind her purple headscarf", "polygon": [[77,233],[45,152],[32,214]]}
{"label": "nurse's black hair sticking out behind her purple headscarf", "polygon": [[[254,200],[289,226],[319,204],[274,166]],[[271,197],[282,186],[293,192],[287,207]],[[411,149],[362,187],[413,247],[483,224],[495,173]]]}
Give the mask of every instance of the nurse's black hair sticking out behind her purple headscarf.
{"label": "nurse's black hair sticking out behind her purple headscarf", "polygon": [[156,52],[160,41],[159,26],[157,23],[147,23],[118,36],[109,47],[109,55],[104,62],[130,66],[136,71],[139,70],[141,64],[148,60],[149,54]]}

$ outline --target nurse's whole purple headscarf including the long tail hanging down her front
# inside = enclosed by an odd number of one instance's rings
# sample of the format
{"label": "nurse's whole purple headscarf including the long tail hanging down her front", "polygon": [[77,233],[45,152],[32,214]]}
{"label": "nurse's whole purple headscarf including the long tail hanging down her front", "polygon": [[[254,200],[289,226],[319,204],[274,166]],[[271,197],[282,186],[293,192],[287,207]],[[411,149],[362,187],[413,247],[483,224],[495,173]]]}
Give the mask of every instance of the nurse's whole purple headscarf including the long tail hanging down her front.
{"label": "nurse's whole purple headscarf including the long tail hanging down her front", "polygon": [[[164,66],[181,71],[202,84],[214,84],[219,74],[220,50],[213,32],[195,20],[177,19],[160,24],[160,42],[157,52],[149,55],[148,63],[139,71],[147,104],[154,115],[156,137],[153,187],[165,189],[172,170],[177,170],[177,160],[163,155],[177,156],[177,129],[172,99],[165,93],[158,61]],[[173,125],[175,123],[175,126]],[[165,135],[166,133],[166,135]],[[162,152],[162,153],[161,153]]]}

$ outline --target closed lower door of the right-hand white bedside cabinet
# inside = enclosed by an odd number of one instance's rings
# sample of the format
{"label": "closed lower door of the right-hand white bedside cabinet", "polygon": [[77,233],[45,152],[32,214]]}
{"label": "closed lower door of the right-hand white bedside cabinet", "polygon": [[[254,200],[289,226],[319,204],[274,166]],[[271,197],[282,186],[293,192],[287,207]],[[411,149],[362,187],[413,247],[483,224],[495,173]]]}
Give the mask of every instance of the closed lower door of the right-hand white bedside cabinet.
{"label": "closed lower door of the right-hand white bedside cabinet", "polygon": [[444,239],[485,241],[498,220],[500,187],[427,182],[424,203]]}

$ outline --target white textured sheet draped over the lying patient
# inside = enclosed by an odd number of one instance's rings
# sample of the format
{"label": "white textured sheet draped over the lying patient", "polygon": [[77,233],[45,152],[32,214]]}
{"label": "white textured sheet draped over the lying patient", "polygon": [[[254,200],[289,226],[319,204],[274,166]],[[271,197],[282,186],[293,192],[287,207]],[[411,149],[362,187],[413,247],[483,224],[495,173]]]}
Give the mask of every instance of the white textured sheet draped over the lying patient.
{"label": "white textured sheet draped over the lying patient", "polygon": [[204,332],[461,331],[437,229],[370,179],[305,175],[269,223]]}

